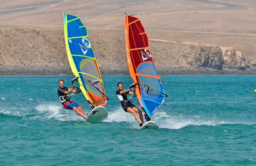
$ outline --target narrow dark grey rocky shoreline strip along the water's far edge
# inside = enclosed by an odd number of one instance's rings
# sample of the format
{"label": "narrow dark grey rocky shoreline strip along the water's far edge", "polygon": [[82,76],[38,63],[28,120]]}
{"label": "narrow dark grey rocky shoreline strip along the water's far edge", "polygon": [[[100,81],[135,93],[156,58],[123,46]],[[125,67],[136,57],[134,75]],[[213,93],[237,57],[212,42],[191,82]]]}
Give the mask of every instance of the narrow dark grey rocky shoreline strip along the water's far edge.
{"label": "narrow dark grey rocky shoreline strip along the water's far edge", "polygon": [[[99,67],[101,75],[130,75],[128,67]],[[216,70],[207,67],[197,68],[158,68],[160,75],[252,75],[256,69],[236,70],[224,68]],[[72,75],[70,67],[0,67],[0,75]]]}

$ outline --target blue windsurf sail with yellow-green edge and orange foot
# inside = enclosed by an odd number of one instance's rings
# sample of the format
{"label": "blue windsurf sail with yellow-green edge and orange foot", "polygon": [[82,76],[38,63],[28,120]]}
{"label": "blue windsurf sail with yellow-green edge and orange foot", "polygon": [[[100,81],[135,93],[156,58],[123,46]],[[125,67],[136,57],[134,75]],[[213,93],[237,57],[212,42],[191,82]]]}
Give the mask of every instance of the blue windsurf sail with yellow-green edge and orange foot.
{"label": "blue windsurf sail with yellow-green edge and orange foot", "polygon": [[93,107],[107,103],[99,67],[94,56],[87,29],[80,18],[64,14],[64,36],[70,68],[84,97]]}

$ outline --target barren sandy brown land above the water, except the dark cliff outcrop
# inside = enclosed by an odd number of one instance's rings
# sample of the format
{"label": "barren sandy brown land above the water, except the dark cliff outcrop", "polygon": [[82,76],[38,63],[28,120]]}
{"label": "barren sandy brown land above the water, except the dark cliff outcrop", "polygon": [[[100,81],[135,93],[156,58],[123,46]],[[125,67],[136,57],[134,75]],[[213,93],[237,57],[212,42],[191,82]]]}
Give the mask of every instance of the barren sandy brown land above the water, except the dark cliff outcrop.
{"label": "barren sandy brown land above the water, except the dark cliff outcrop", "polygon": [[[254,0],[131,0],[129,3],[0,0],[0,3],[0,74],[6,71],[37,74],[37,69],[39,74],[54,74],[52,67],[59,67],[60,72],[56,74],[68,73],[63,12],[81,18],[100,68],[104,71],[111,68],[110,73],[119,69],[128,71],[124,55],[124,13],[140,18],[152,52],[157,55],[153,56],[156,67],[162,71],[168,69],[167,74],[254,73]],[[197,53],[192,53],[191,45],[186,42],[233,47],[250,60],[250,68],[218,71],[189,66],[184,57],[191,55],[193,59]]]}

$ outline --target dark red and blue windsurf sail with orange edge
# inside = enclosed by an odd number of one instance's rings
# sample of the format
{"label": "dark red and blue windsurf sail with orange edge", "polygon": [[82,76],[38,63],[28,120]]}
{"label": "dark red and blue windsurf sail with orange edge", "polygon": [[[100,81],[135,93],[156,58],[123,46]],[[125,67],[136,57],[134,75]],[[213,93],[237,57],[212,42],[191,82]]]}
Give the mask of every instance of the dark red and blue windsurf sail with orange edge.
{"label": "dark red and blue windsurf sail with orange edge", "polygon": [[143,110],[152,117],[167,95],[155,68],[145,29],[138,18],[129,15],[125,15],[125,46],[132,82],[138,83],[135,86],[137,98]]}

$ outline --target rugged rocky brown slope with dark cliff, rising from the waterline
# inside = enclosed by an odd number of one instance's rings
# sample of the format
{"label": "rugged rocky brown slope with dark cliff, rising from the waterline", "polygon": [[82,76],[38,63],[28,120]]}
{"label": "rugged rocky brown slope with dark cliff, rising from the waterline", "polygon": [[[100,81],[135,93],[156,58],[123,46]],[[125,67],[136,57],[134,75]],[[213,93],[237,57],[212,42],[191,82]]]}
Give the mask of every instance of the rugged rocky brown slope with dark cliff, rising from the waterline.
{"label": "rugged rocky brown slope with dark cliff, rising from the waterline", "polygon": [[[128,74],[123,31],[88,32],[102,74]],[[70,74],[63,28],[0,29],[0,74]],[[255,62],[235,48],[149,39],[161,74],[254,73]]]}

